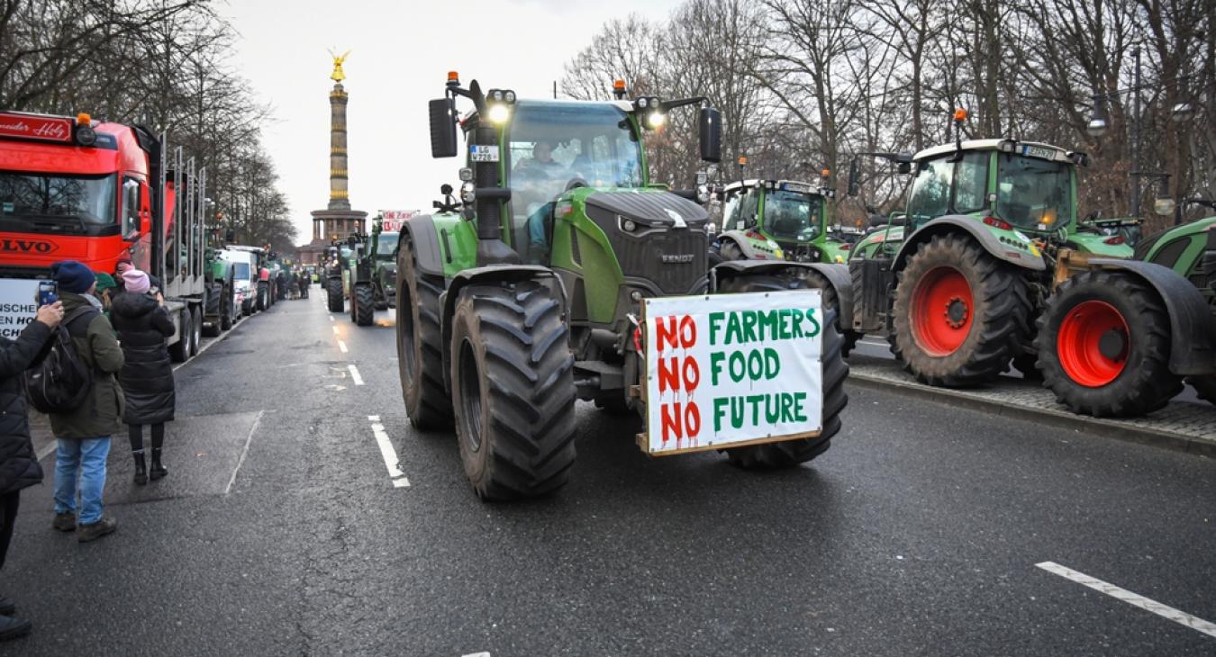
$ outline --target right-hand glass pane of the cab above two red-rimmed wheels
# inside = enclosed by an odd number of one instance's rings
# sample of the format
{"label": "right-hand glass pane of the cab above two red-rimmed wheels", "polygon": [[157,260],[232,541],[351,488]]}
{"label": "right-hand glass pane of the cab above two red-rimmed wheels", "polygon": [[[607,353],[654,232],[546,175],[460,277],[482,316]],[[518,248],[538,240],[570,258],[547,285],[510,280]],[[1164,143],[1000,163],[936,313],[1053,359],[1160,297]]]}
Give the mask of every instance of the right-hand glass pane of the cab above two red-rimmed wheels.
{"label": "right-hand glass pane of the cab above two red-rimmed wheels", "polygon": [[1002,154],[996,187],[996,214],[1014,226],[1053,231],[1073,220],[1069,164]]}

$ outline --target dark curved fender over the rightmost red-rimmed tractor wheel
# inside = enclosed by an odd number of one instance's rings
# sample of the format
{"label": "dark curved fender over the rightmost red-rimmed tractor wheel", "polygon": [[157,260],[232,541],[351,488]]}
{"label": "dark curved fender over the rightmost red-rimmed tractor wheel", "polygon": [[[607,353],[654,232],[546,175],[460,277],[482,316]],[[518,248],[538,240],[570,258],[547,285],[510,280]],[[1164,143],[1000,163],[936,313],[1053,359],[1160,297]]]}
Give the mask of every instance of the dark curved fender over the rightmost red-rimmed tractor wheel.
{"label": "dark curved fender over the rightmost red-rimmed tractor wheel", "polygon": [[1178,272],[1139,260],[1093,259],[1093,267],[1128,273],[1156,291],[1170,315],[1170,372],[1181,376],[1216,370],[1216,319],[1204,295]]}

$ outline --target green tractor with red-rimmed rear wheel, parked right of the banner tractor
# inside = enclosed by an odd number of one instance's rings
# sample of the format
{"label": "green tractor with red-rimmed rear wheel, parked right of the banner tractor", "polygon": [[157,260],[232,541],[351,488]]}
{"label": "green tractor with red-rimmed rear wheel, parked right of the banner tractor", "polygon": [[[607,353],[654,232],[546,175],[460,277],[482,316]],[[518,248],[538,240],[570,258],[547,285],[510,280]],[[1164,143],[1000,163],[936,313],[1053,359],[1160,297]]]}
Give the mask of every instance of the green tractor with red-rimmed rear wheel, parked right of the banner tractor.
{"label": "green tractor with red-rimmed rear wheel, parked right of the banner tractor", "polygon": [[[964,119],[956,114],[956,125]],[[866,154],[897,163],[901,172],[914,170],[914,177],[906,213],[893,214],[850,249],[852,304],[841,305],[841,313],[858,334],[885,334],[922,383],[976,385],[1010,362],[1036,373],[1034,327],[1058,251],[1132,255],[1121,236],[1077,228],[1083,153],[958,137],[916,155]],[[858,186],[854,160],[850,196]]]}

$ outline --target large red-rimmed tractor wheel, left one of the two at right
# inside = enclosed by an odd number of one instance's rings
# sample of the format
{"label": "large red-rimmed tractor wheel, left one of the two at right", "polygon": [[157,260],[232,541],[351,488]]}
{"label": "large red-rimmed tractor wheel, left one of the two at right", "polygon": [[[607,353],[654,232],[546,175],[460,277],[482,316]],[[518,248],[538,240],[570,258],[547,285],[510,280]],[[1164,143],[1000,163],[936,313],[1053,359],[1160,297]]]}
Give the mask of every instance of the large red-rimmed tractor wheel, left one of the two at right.
{"label": "large red-rimmed tractor wheel, left one of the two at right", "polygon": [[921,383],[969,386],[1009,368],[1030,317],[1026,279],[969,237],[921,244],[895,287],[895,357]]}

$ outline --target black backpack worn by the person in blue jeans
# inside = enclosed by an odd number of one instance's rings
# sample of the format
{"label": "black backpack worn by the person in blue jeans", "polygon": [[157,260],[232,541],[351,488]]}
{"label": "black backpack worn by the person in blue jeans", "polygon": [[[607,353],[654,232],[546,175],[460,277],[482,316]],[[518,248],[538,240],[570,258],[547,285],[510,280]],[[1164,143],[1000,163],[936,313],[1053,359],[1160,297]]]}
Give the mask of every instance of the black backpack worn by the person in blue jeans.
{"label": "black backpack worn by the person in blue jeans", "polygon": [[68,313],[60,323],[50,349],[40,363],[26,370],[26,398],[40,413],[71,413],[84,404],[92,390],[92,372],[77,352],[68,333],[73,321],[96,312],[85,306]]}

